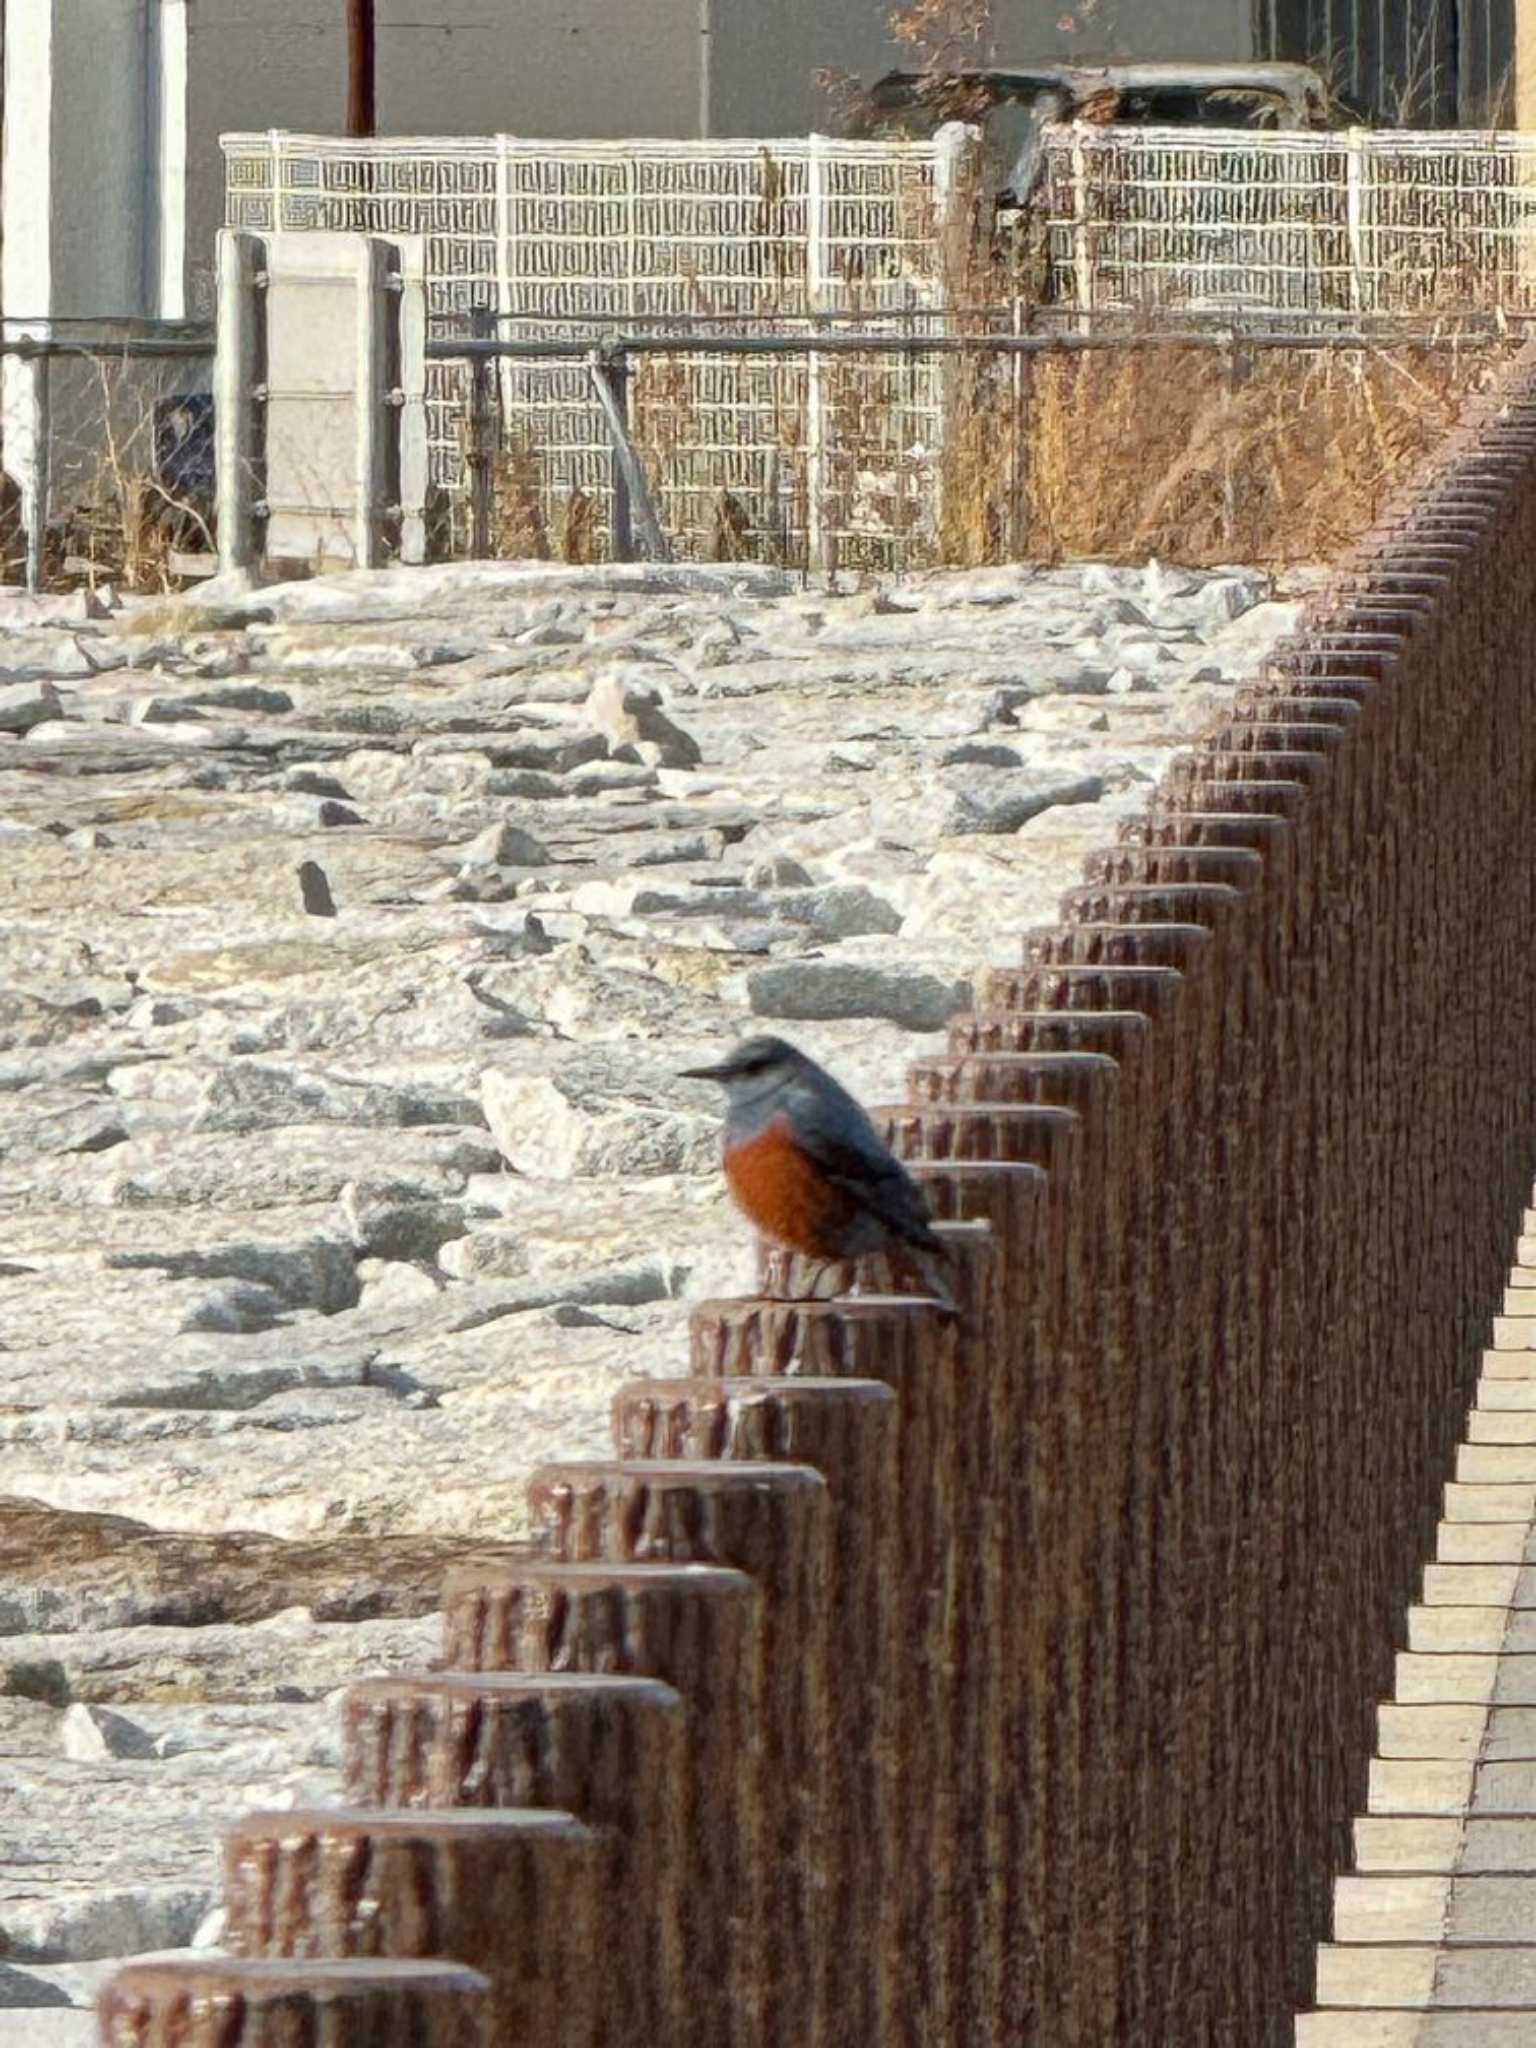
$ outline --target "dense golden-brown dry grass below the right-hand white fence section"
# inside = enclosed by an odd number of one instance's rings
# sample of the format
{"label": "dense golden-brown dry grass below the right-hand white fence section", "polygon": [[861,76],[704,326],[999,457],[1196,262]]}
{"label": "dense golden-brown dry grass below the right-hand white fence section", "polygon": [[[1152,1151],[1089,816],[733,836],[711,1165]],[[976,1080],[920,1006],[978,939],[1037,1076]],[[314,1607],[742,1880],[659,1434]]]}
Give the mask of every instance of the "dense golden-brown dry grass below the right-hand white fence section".
{"label": "dense golden-brown dry grass below the right-hand white fence section", "polygon": [[944,555],[1329,561],[1497,360],[1489,348],[1174,344],[1034,358],[1016,436],[999,377],[961,412],[944,469]]}

